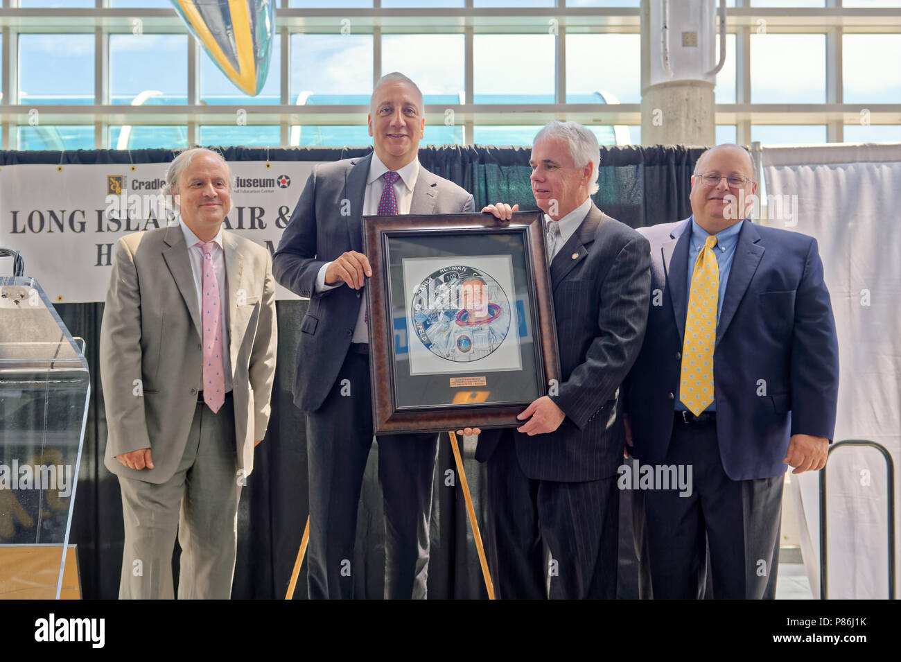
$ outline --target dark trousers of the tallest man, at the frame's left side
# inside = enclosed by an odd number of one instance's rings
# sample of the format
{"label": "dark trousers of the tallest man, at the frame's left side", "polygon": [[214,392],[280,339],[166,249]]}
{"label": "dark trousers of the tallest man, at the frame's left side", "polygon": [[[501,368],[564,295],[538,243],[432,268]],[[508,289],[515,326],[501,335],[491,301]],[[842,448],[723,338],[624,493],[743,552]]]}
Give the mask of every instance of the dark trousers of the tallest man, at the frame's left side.
{"label": "dark trousers of the tallest man, at the frame's left side", "polygon": [[[306,413],[311,599],[353,597],[357,509],[372,436],[369,357],[351,349],[322,407]],[[385,597],[425,598],[438,436],[380,435],[377,441],[385,505]]]}

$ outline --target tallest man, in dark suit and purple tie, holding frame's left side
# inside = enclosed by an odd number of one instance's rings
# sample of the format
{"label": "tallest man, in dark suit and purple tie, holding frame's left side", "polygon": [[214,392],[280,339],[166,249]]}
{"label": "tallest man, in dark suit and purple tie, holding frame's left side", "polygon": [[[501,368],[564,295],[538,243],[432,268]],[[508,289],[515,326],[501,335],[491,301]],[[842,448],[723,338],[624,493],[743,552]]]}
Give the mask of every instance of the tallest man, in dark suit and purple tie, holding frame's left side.
{"label": "tallest man, in dark suit and purple tie, holding frame's left side", "polygon": [[[278,283],[310,297],[294,395],[306,412],[311,598],[352,597],[357,504],[373,435],[362,293],[372,269],[360,252],[361,216],[475,210],[472,195],[420,167],[423,112],[412,80],[382,77],[369,104],[375,152],[314,168],[273,258]],[[378,437],[387,598],[426,595],[437,452],[434,434]]]}

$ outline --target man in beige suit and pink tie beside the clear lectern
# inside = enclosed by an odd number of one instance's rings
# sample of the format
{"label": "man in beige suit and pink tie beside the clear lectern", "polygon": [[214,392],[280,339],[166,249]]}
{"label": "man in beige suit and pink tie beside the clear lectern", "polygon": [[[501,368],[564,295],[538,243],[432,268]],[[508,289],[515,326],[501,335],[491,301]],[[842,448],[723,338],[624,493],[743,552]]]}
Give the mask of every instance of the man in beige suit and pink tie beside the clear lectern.
{"label": "man in beige suit and pink tie beside the clear lectern", "polygon": [[268,251],[223,231],[231,173],[212,150],[181,152],[164,192],[177,225],[116,244],[100,334],[105,465],[119,476],[120,598],[232,593],[241,485],[266,434],[276,365]]}

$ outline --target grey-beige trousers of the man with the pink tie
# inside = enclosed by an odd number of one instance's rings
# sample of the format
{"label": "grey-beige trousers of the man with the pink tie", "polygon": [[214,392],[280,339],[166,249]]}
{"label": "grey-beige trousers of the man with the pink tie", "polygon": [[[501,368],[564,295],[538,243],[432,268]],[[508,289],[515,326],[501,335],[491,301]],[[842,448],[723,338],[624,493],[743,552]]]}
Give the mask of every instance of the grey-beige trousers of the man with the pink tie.
{"label": "grey-beige trousers of the man with the pink tie", "polygon": [[182,550],[178,599],[227,600],[241,497],[232,394],[226,394],[217,413],[197,403],[185,452],[168,481],[157,485],[119,476],[119,485],[125,521],[119,598],[173,597],[177,535]]}

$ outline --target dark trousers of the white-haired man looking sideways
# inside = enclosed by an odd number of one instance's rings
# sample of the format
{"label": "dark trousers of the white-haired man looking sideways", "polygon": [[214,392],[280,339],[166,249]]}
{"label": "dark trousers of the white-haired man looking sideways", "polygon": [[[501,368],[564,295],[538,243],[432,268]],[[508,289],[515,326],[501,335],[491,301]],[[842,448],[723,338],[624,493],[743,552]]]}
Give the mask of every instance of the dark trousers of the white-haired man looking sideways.
{"label": "dark trousers of the white-haired man looking sideways", "polygon": [[529,478],[505,434],[487,461],[487,495],[496,597],[616,597],[616,476],[575,483]]}

